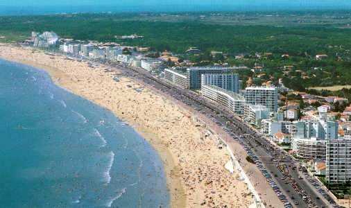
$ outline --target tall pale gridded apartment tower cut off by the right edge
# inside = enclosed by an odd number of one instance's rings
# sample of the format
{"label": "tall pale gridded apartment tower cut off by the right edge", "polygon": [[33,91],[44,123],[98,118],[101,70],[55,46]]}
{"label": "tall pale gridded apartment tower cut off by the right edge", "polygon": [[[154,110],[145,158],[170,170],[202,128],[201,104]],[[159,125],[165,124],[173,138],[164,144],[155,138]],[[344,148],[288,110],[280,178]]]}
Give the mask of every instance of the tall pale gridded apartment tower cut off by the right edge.
{"label": "tall pale gridded apartment tower cut off by the right edge", "polygon": [[351,181],[351,138],[327,141],[326,166],[325,178],[329,184]]}

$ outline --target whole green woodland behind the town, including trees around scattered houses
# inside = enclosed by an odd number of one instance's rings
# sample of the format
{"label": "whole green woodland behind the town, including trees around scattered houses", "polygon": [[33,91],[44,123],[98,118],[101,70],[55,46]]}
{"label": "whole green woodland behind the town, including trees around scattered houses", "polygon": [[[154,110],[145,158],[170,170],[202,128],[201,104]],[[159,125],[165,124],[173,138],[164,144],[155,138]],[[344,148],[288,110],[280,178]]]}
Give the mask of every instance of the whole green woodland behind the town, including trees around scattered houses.
{"label": "whole green woodland behind the town, including trees around scattered houses", "polygon": [[[185,17],[177,18],[175,21],[151,20],[135,14],[0,17],[0,36],[3,36],[0,41],[22,41],[31,35],[31,31],[54,31],[60,37],[75,40],[147,46],[159,52],[167,50],[197,64],[259,65],[264,67],[259,72],[264,75],[257,77],[258,73],[245,72],[245,76],[254,78],[256,84],[267,80],[276,83],[278,78],[283,78],[286,87],[301,91],[315,86],[351,84],[351,28],[332,24],[206,24]],[[135,40],[116,38],[131,34],[144,37]],[[198,47],[202,53],[185,55],[191,46]],[[222,51],[224,56],[214,58],[210,51]],[[272,55],[257,58],[255,53]],[[245,58],[235,59],[239,54]],[[282,54],[289,54],[289,58],[282,58]],[[316,60],[316,54],[327,54],[328,58]],[[293,69],[282,70],[286,65],[292,65]]]}

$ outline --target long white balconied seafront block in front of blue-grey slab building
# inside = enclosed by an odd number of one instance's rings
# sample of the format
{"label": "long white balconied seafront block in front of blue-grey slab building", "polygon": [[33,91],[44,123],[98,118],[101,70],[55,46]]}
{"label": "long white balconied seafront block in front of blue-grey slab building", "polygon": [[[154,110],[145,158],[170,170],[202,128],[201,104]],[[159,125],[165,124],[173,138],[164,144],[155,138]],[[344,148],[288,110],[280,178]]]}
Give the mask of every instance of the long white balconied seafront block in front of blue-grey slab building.
{"label": "long white balconied seafront block in front of blue-grey slab building", "polygon": [[210,100],[227,107],[234,114],[243,114],[245,98],[240,94],[214,85],[202,85],[201,94]]}

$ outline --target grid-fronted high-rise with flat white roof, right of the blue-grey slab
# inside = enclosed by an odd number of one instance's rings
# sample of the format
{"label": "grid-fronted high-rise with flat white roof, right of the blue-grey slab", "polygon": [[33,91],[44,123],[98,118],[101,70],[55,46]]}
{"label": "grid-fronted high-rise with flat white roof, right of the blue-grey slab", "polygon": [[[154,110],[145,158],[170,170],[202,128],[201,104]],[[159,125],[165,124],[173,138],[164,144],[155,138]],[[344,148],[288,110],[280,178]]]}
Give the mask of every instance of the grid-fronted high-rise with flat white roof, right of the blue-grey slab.
{"label": "grid-fronted high-rise with flat white roof, right of the blue-grey slab", "polygon": [[277,112],[278,92],[275,87],[246,87],[246,103],[264,105],[270,112]]}

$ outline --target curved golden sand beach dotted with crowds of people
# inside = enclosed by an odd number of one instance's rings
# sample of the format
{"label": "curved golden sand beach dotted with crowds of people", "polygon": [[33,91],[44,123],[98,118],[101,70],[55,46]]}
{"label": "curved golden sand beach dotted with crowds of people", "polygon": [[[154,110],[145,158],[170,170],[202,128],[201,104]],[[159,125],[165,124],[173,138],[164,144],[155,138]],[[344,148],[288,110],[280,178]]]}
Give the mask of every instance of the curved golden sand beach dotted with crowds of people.
{"label": "curved golden sand beach dotted with crowds of people", "polygon": [[57,85],[132,125],[162,158],[171,207],[252,204],[246,184],[225,169],[230,160],[227,150],[219,149],[205,125],[175,101],[130,78],[114,81],[116,72],[106,72],[103,64],[92,68],[87,62],[8,44],[0,44],[0,58],[44,69]]}

